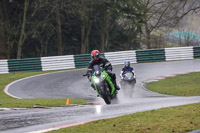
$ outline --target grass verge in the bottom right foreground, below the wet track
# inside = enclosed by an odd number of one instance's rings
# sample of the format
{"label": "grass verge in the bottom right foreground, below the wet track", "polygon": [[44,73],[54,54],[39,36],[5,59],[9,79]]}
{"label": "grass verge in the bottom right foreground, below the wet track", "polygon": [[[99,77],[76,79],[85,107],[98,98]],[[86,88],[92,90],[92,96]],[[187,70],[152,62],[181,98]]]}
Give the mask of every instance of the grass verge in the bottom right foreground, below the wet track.
{"label": "grass verge in the bottom right foreground, below the wet track", "polygon": [[200,129],[199,103],[93,121],[52,133],[184,133],[197,129]]}

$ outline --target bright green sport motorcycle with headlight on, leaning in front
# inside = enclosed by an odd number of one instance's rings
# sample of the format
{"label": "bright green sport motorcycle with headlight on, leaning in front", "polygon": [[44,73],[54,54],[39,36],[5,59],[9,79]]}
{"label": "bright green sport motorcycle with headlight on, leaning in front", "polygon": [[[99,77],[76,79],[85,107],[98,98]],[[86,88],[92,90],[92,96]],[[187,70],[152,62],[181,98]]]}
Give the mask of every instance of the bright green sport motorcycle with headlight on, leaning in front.
{"label": "bright green sport motorcycle with headlight on, leaning in front", "polygon": [[[84,74],[83,76],[88,76],[88,74]],[[111,104],[112,99],[117,99],[117,91],[111,81],[111,77],[104,68],[99,65],[93,66],[91,82],[98,95],[104,99],[106,104]]]}

